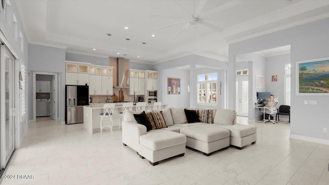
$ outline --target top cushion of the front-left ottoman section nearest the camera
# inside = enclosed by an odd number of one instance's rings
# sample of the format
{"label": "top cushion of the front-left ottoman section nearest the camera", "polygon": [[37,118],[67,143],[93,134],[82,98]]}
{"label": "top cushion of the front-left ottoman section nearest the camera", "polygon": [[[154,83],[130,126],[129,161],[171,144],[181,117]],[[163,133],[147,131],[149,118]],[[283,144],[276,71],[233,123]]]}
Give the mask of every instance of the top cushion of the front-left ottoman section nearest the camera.
{"label": "top cushion of the front-left ottoman section nearest the camera", "polygon": [[163,129],[152,130],[148,134],[139,137],[141,145],[156,151],[167,147],[186,143],[186,136],[176,132],[165,131]]}

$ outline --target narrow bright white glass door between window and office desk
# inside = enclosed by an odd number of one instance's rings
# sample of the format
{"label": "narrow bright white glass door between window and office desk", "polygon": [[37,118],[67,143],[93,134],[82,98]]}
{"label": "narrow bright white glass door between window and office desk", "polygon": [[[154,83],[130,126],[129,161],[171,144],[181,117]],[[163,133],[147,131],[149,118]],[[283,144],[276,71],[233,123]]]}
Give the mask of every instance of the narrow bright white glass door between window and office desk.
{"label": "narrow bright white glass door between window and office desk", "polygon": [[236,77],[236,114],[248,116],[248,77]]}

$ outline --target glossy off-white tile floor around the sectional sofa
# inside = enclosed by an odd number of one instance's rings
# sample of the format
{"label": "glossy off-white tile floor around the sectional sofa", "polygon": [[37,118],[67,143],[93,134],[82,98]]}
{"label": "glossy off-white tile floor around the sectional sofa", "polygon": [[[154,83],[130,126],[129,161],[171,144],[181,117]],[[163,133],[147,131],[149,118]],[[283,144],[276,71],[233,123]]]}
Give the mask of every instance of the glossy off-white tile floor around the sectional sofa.
{"label": "glossy off-white tile floor around the sectional sofa", "polygon": [[34,179],[1,184],[329,184],[329,145],[289,139],[289,124],[282,122],[250,124],[258,127],[258,141],[243,150],[206,157],[186,149],[184,157],[153,167],[122,145],[121,130],[90,135],[83,124],[41,118],[29,124],[5,172]]}

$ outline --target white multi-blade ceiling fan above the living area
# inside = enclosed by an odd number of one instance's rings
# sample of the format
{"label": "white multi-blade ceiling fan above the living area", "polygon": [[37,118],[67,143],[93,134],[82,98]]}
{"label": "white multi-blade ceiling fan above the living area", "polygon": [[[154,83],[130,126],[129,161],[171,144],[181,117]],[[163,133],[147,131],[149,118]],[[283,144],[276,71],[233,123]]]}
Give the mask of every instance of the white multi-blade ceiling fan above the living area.
{"label": "white multi-blade ceiling fan above the living area", "polygon": [[[207,12],[201,13],[202,9],[204,8],[204,6],[207,3],[207,0],[200,1],[199,4],[198,4],[198,7],[196,9],[195,9],[195,0],[194,0],[194,2],[193,2],[193,14],[191,14],[184,7],[182,7],[181,5],[179,5],[175,0],[172,0],[172,1],[175,2],[186,13],[188,13],[190,15],[190,17],[188,18],[188,20],[180,21],[180,22],[177,22],[177,23],[174,23],[174,24],[170,24],[170,25],[166,25],[166,26],[161,26],[159,28],[155,28],[155,30],[162,29],[162,28],[167,28],[167,27],[170,27],[170,26],[174,26],[174,25],[177,25],[177,24],[188,22],[184,27],[182,27],[173,36],[173,38],[175,38],[181,31],[185,30],[190,25],[197,25],[197,24],[206,26],[206,27],[208,27],[210,29],[213,29],[215,31],[218,31],[218,32],[222,32],[222,31],[224,31],[223,28],[218,27],[218,26],[213,25],[213,24],[210,24],[210,23],[208,23],[208,22],[205,21],[207,19],[207,16],[206,15],[217,13],[217,12],[220,12],[220,11],[223,11],[223,10],[226,10],[226,9],[229,9],[231,7],[234,7],[234,6],[237,6],[237,5],[240,5],[241,4],[241,1],[235,0],[235,1],[231,1],[231,2],[229,2],[227,4],[224,4],[222,6],[219,6],[217,8],[211,9],[211,10],[209,10]],[[161,15],[160,16],[159,15],[151,15],[151,16],[153,16],[153,17],[171,17],[171,18],[173,18],[173,16],[161,16]],[[181,17],[174,17],[174,18],[181,18]]]}

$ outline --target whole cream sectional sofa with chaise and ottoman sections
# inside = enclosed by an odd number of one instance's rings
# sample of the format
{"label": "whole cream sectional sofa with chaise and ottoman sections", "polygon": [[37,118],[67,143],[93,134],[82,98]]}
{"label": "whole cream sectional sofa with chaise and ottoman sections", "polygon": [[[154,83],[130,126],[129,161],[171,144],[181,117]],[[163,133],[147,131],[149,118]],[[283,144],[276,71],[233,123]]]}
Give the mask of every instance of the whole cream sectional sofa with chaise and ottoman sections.
{"label": "whole cream sectional sofa with chaise and ottoman sections", "polygon": [[209,156],[212,152],[227,149],[230,145],[241,150],[243,146],[257,141],[257,127],[236,123],[234,110],[212,109],[211,121],[208,119],[211,123],[186,123],[184,109],[162,109],[168,127],[149,132],[134,118],[134,114],[140,112],[126,112],[122,122],[123,145],[130,146],[141,158],[147,158],[150,164],[156,165],[163,159],[184,156],[185,147]]}

